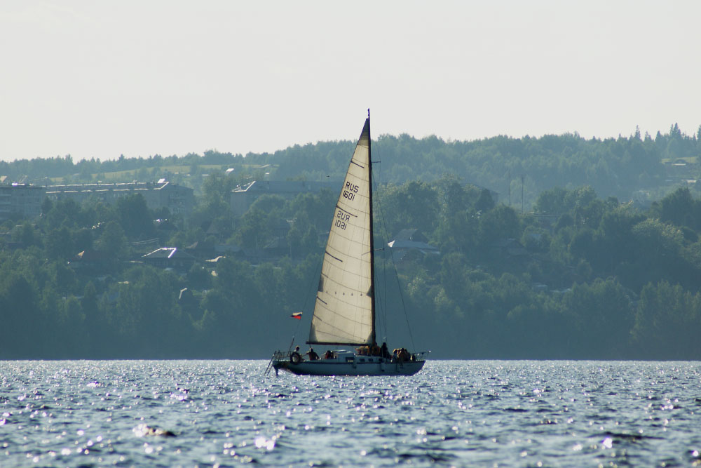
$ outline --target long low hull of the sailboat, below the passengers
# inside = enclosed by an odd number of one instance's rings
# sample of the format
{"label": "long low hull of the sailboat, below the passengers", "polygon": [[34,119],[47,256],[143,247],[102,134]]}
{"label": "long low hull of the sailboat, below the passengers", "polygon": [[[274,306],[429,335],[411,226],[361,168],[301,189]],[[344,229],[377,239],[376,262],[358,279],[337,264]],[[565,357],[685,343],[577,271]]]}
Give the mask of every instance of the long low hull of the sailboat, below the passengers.
{"label": "long low hull of the sailboat, below the passengers", "polygon": [[426,361],[407,362],[333,362],[333,361],[290,361],[273,360],[275,373],[278,370],[296,375],[414,375]]}

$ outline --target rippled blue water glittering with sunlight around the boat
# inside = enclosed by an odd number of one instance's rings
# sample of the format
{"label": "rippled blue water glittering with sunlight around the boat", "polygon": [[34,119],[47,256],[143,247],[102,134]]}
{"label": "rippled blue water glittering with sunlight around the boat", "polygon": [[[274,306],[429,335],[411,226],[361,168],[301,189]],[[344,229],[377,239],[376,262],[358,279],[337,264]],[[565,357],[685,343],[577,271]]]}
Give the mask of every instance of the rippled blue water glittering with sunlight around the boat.
{"label": "rippled blue water glittering with sunlight around the boat", "polygon": [[0,361],[0,466],[701,464],[701,363]]}

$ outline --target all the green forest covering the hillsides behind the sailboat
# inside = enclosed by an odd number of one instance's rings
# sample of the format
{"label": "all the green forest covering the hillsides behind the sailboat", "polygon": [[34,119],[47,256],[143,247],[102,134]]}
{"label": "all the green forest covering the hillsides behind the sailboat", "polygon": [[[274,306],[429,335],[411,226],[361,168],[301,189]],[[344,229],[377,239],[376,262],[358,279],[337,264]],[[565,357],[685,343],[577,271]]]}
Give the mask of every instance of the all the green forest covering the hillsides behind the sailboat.
{"label": "all the green forest covering the hillsides behind the sailboat", "polygon": [[[700,359],[701,198],[698,184],[671,187],[679,182],[663,164],[686,158],[693,167],[700,137],[676,126],[654,139],[380,137],[376,245],[414,228],[440,253],[400,262],[389,248],[378,255],[379,335],[435,358]],[[40,218],[5,222],[0,359],[265,358],[287,348],[292,333],[304,342],[337,195],[262,196],[240,218],[227,197],[266,172],[338,178],[352,147],[1,163],[14,178],[66,182],[117,171],[152,180],[187,166],[182,183],[197,181],[198,205],[179,218],[149,210],[139,195],[114,206],[46,200]],[[524,174],[524,210],[520,178],[512,182],[517,209],[504,196],[508,173]],[[641,190],[664,196],[637,206],[631,194]],[[166,218],[175,228],[164,234],[154,220]],[[289,254],[275,260],[227,255],[186,272],[141,261],[142,242],[154,238],[178,248],[255,248],[279,236],[280,220],[291,221]],[[99,253],[100,265],[76,268],[81,251]],[[299,310],[304,329],[289,318]]]}

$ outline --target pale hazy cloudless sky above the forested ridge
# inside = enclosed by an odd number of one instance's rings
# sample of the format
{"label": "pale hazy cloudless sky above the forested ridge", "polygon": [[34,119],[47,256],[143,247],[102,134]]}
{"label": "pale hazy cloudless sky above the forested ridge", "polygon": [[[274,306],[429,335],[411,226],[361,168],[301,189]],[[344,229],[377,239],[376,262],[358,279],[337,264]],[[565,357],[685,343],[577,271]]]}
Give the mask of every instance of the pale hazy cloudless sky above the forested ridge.
{"label": "pale hazy cloudless sky above the forested ridge", "polygon": [[0,159],[701,124],[701,1],[0,2]]}

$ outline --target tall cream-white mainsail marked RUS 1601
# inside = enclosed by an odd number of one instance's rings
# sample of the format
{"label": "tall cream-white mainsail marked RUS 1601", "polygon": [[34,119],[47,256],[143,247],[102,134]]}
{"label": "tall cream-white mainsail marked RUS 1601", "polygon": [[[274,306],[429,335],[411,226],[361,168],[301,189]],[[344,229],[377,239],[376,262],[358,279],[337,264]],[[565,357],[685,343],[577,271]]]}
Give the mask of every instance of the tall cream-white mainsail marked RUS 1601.
{"label": "tall cream-white mainsail marked RUS 1601", "polygon": [[370,119],[365,120],[336,203],[309,342],[374,342]]}

